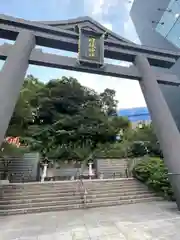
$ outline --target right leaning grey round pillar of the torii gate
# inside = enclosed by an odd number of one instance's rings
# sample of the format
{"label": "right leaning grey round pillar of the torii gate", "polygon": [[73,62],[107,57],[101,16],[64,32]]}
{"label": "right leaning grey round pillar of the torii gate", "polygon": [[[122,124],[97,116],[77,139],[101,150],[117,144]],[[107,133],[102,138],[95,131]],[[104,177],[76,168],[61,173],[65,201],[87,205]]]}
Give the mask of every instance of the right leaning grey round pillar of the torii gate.
{"label": "right leaning grey round pillar of the torii gate", "polygon": [[140,86],[163,151],[180,210],[180,133],[147,58],[142,55],[137,56],[135,65],[142,76]]}

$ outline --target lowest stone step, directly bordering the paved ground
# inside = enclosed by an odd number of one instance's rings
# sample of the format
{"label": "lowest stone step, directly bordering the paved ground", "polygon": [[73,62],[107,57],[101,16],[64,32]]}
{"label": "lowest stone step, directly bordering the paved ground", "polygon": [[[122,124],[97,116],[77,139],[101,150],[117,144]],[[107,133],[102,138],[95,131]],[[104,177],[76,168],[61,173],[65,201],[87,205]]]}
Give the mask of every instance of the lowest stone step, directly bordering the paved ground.
{"label": "lowest stone step, directly bordering the paved ground", "polygon": [[150,201],[162,201],[161,197],[149,197],[149,198],[136,198],[131,200],[119,200],[119,201],[103,201],[103,202],[93,202],[88,204],[66,204],[66,205],[52,205],[52,206],[43,206],[43,207],[32,207],[24,209],[8,209],[0,210],[0,216],[4,215],[15,215],[15,214],[28,214],[28,213],[40,213],[40,212],[52,212],[52,211],[63,211],[79,208],[94,208],[94,207],[105,207],[105,206],[114,206],[114,205],[123,205],[123,204],[132,204],[139,202],[150,202]]}

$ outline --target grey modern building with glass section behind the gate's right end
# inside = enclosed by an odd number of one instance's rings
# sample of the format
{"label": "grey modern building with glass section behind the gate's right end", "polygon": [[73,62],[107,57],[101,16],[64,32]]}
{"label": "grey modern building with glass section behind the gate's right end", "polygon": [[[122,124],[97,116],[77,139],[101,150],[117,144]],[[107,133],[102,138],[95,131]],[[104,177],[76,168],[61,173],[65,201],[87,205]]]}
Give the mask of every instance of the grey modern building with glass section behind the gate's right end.
{"label": "grey modern building with glass section behind the gate's right end", "polygon": [[[130,16],[142,45],[180,51],[180,0],[134,0]],[[180,79],[180,60],[170,71]],[[160,88],[180,130],[180,87]]]}

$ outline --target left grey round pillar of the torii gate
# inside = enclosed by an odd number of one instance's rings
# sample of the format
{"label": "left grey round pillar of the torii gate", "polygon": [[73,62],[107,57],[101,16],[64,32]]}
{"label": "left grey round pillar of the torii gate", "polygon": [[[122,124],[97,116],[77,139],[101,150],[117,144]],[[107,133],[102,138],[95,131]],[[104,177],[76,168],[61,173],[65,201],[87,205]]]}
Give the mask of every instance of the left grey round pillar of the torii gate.
{"label": "left grey round pillar of the torii gate", "polygon": [[34,47],[34,35],[27,30],[21,31],[0,72],[0,145],[8,129]]}

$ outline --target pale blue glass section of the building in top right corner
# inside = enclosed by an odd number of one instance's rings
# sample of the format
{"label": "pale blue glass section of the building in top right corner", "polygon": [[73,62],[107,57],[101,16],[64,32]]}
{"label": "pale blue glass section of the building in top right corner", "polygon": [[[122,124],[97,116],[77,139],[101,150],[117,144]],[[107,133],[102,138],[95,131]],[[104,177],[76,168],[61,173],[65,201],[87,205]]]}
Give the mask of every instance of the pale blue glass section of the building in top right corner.
{"label": "pale blue glass section of the building in top right corner", "polygon": [[163,15],[156,26],[156,31],[180,47],[180,0],[171,0],[166,9],[159,10],[163,11]]}

